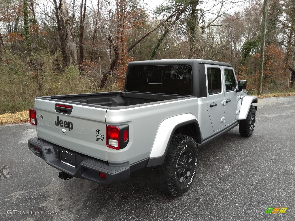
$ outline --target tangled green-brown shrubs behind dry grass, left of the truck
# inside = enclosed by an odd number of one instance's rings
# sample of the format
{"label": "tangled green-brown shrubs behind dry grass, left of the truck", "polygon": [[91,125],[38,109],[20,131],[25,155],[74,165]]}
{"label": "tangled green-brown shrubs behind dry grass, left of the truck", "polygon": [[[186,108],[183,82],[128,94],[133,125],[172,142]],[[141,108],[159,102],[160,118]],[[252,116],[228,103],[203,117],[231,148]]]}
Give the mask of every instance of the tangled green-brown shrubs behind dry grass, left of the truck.
{"label": "tangled green-brown shrubs behind dry grass, left of the truck", "polygon": [[0,114],[32,108],[38,96],[94,92],[89,77],[77,66],[63,69],[58,57],[42,52],[21,60],[7,51],[0,62]]}

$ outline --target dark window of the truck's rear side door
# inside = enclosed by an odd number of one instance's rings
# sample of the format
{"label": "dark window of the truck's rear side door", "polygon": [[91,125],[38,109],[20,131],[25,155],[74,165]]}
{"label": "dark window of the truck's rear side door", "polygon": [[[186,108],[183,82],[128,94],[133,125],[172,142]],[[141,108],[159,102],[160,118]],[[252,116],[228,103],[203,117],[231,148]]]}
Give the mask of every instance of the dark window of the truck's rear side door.
{"label": "dark window of the truck's rear side door", "polygon": [[221,92],[221,71],[219,68],[208,67],[208,92],[216,94]]}

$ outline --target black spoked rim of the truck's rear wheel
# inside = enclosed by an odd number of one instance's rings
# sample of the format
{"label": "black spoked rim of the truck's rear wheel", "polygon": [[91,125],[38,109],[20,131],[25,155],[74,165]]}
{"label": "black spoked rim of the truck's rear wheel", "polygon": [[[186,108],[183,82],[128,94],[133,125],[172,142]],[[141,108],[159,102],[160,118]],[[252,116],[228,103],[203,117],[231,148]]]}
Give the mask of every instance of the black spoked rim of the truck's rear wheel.
{"label": "black spoked rim of the truck's rear wheel", "polygon": [[177,162],[176,178],[180,184],[185,184],[192,173],[193,151],[186,149],[183,151]]}

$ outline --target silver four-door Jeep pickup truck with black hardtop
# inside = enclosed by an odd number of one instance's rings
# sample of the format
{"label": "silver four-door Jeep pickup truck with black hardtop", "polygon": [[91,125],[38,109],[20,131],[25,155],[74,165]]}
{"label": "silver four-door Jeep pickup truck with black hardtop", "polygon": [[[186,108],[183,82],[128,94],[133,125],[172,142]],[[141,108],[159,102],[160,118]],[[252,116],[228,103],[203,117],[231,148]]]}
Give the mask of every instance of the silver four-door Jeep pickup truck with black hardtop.
{"label": "silver four-door Jeep pickup truck with black hardtop", "polygon": [[237,125],[252,135],[257,97],[246,83],[223,62],[130,62],[124,92],[36,98],[28,146],[61,179],[110,184],[156,167],[163,191],[179,196],[196,176],[198,147]]}

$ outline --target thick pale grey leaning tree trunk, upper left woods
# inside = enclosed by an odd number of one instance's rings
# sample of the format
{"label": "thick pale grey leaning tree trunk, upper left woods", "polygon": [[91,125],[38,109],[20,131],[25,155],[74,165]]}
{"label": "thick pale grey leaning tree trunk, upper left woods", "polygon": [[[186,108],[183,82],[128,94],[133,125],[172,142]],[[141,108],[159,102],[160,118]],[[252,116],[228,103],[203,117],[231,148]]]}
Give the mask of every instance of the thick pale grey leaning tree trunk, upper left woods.
{"label": "thick pale grey leaning tree trunk, upper left woods", "polygon": [[73,24],[68,17],[68,7],[66,4],[66,0],[60,0],[60,11],[61,17],[63,19],[63,23],[65,24],[67,33],[68,33],[68,41],[69,41],[69,52],[70,52],[70,64],[77,64],[77,45],[75,42],[75,35],[73,30]]}

